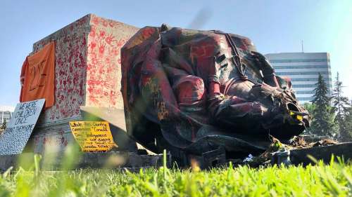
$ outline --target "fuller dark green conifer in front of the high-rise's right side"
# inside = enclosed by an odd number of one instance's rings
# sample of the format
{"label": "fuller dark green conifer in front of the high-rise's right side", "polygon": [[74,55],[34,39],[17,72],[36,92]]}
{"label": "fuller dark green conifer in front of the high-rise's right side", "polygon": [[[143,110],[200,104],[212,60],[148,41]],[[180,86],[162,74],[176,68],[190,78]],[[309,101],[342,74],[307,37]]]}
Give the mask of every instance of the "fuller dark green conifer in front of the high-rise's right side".
{"label": "fuller dark green conifer in front of the high-rise's right side", "polygon": [[315,135],[328,135],[337,137],[337,125],[334,123],[334,110],[330,106],[331,97],[328,96],[327,84],[322,75],[318,76],[318,83],[315,84],[315,94],[312,103],[314,105],[312,113],[311,128],[308,133]]}

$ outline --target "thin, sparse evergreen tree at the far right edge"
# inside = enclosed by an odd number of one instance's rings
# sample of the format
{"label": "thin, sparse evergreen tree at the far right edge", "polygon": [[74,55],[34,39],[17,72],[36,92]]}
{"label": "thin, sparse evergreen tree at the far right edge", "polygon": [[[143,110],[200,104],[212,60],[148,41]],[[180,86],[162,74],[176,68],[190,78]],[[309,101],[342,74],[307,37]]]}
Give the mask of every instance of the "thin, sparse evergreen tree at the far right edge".
{"label": "thin, sparse evergreen tree at the far right edge", "polygon": [[334,111],[336,113],[335,116],[335,123],[337,123],[337,126],[339,128],[339,140],[341,141],[348,141],[352,140],[351,133],[349,133],[348,130],[348,118],[351,118],[351,116],[348,116],[349,110],[351,109],[351,105],[348,102],[348,98],[344,97],[342,88],[342,82],[339,80],[339,73],[337,73],[336,76],[336,81],[334,83],[334,90],[332,92],[332,97],[333,97],[333,107]]}

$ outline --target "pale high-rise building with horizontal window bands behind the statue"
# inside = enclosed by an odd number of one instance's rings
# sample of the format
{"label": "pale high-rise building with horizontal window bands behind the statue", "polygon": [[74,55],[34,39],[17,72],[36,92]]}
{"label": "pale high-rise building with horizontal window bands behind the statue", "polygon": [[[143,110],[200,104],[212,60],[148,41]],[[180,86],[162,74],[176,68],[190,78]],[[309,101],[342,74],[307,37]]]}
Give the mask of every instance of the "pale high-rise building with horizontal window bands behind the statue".
{"label": "pale high-rise building with horizontal window bands behind the statue", "polygon": [[322,74],[329,94],[332,92],[332,76],[329,53],[269,53],[265,55],[279,76],[288,76],[301,102],[313,100],[315,83]]}

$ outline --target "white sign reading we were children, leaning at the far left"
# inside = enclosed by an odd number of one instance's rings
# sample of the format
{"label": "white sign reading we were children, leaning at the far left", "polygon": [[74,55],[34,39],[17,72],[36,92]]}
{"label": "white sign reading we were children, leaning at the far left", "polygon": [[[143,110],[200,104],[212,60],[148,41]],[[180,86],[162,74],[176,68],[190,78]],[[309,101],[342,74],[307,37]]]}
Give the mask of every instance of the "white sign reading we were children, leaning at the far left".
{"label": "white sign reading we were children, leaning at the far left", "polygon": [[0,155],[22,153],[42,112],[44,102],[44,99],[40,99],[16,105],[6,130],[0,135]]}

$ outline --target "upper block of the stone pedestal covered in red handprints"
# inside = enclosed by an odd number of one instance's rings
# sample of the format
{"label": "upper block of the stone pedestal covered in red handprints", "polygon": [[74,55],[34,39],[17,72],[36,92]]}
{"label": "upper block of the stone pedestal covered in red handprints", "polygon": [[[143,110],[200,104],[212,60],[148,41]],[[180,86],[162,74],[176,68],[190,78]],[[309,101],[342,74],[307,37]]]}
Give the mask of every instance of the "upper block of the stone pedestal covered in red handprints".
{"label": "upper block of the stone pedestal covered in red handprints", "polygon": [[[87,28],[89,27],[89,28]],[[36,52],[56,40],[56,103],[44,122],[80,115],[80,106],[122,107],[120,48],[137,28],[87,15],[34,43]]]}

